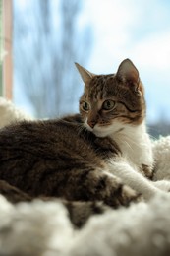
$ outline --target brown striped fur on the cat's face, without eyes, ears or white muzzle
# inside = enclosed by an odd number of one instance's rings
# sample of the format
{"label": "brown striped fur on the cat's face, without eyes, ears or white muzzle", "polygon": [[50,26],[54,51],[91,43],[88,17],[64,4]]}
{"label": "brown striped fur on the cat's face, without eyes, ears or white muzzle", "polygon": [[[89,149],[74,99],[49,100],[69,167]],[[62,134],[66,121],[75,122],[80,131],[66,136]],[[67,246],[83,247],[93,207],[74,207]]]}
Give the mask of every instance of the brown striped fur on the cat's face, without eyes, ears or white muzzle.
{"label": "brown striped fur on the cat's face, without eyes, ears or white muzzle", "polygon": [[[140,84],[140,91],[143,94],[143,87]],[[100,111],[98,114],[96,101],[103,101],[104,98],[113,99],[117,102],[116,109],[108,113]],[[88,100],[92,104],[89,123],[93,125],[99,123],[100,126],[107,126],[113,118],[124,123],[140,124],[145,115],[145,102],[143,98],[135,95],[133,87],[121,83],[118,79],[115,80],[114,75],[94,76],[89,84],[85,87],[85,93],[81,97],[80,104]],[[80,108],[82,115],[86,113]]]}

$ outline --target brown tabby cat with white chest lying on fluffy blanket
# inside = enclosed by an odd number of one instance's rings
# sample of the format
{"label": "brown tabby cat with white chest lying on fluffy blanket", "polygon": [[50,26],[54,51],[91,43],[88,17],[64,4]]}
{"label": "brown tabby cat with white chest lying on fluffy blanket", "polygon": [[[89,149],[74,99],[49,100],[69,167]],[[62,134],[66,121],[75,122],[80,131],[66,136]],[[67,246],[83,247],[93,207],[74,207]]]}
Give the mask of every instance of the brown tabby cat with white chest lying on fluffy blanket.
{"label": "brown tabby cat with white chest lying on fluffy blanket", "polygon": [[153,156],[137,68],[129,59],[110,75],[76,66],[85,83],[80,114],[1,129],[0,179],[26,200],[102,201],[113,208],[163,193],[158,187],[168,190],[150,180]]}

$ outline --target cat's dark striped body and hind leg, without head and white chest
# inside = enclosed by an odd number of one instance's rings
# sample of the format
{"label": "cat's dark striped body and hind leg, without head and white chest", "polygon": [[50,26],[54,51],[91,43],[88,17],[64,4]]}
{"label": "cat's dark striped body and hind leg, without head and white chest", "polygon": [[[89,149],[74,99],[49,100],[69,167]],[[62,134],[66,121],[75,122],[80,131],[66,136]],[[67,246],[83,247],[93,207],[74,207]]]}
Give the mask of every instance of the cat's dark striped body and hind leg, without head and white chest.
{"label": "cat's dark striped body and hind leg, without head and white chest", "polygon": [[0,133],[0,178],[33,197],[128,204],[135,193],[122,192],[120,180],[105,173],[104,158],[114,155],[115,148],[102,147],[103,140],[100,145],[100,139],[81,132],[80,125],[81,117],[75,115],[6,127]]}

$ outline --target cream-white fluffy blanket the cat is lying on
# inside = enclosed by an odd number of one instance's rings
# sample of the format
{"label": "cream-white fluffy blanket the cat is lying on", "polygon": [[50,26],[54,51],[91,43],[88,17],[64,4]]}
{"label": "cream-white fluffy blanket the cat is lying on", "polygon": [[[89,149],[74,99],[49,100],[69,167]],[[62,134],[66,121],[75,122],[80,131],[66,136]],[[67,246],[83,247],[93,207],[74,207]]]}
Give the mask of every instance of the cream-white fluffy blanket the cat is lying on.
{"label": "cream-white fluffy blanket the cat is lying on", "polygon": [[[20,113],[20,114],[19,114]],[[27,118],[0,98],[0,126]],[[170,136],[153,143],[156,178],[170,166]],[[168,177],[167,177],[168,178]],[[170,170],[169,170],[170,179]],[[74,229],[58,201],[12,205],[0,195],[0,255],[159,256],[170,255],[170,196],[108,210]]]}

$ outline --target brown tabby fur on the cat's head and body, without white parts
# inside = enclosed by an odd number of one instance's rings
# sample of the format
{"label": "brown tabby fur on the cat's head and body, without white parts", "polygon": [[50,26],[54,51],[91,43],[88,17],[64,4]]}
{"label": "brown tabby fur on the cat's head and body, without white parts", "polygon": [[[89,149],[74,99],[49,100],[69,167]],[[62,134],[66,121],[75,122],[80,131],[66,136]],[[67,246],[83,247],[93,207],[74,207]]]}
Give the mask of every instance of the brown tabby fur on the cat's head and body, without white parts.
{"label": "brown tabby fur on the cat's head and body, without white parts", "polygon": [[[1,129],[0,179],[8,182],[0,183],[1,193],[12,202],[57,197],[68,200],[68,209],[71,201],[88,201],[92,205],[102,201],[113,208],[136,201],[134,190],[105,173],[107,160],[121,155],[119,146],[108,137],[96,137],[85,129],[84,123],[86,115],[90,127],[96,123],[107,126],[113,118],[141,123],[145,102],[138,96],[137,86],[143,94],[142,84],[137,85],[133,78],[123,81],[121,70],[117,76],[93,76],[85,84],[80,114],[58,120],[23,121]],[[117,102],[114,111],[98,108],[100,101],[108,97]],[[88,113],[82,107],[85,100],[92,106]]]}

